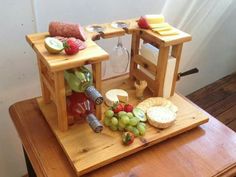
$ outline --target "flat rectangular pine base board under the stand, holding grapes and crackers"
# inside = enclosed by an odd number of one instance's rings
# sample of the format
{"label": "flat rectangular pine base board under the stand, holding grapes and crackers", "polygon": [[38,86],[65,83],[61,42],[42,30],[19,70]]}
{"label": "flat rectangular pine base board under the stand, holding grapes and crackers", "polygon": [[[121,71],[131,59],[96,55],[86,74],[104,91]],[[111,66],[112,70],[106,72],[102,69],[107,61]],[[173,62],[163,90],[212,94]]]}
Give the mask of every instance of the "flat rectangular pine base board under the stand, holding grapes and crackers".
{"label": "flat rectangular pine base board under the stand, holding grapes and crackers", "polygon": [[[127,76],[104,81],[102,85],[103,92],[111,88],[123,88],[129,92],[130,103],[136,105],[140,102],[135,99],[133,81],[129,80]],[[147,90],[145,97],[150,96],[150,92]],[[206,114],[178,94],[174,94],[170,100],[179,108],[175,124],[164,130],[157,130],[147,125],[145,136],[136,138],[134,143],[129,146],[122,145],[120,132],[113,132],[107,127],[102,133],[96,134],[86,123],[82,123],[72,125],[68,131],[61,132],[57,128],[57,113],[54,103],[46,105],[42,98],[37,101],[72,166],[78,175],[82,175],[208,121]],[[103,111],[104,109],[106,106],[103,106]]]}

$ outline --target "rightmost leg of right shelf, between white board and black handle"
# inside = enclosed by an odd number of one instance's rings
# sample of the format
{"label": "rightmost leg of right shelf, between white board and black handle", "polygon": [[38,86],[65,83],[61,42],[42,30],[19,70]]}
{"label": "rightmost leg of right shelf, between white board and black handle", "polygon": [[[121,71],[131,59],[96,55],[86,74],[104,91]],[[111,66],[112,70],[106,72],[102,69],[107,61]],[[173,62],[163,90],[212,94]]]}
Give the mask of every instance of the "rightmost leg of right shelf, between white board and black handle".
{"label": "rightmost leg of right shelf, between white board and black handle", "polygon": [[171,56],[176,58],[175,72],[174,72],[174,77],[173,77],[173,81],[172,81],[172,88],[171,88],[171,96],[173,96],[175,93],[175,87],[176,87],[176,81],[177,81],[177,77],[178,77],[182,48],[183,48],[183,43],[178,44],[178,45],[173,45],[172,51],[171,51]]}

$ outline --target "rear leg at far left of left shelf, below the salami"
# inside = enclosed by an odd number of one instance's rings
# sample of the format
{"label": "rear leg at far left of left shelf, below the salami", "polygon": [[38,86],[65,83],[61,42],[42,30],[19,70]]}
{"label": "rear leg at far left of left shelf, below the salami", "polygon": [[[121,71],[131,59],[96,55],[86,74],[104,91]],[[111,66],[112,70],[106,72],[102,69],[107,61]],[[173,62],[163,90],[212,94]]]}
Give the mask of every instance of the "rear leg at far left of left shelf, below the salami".
{"label": "rear leg at far left of left shelf, below the salami", "polygon": [[47,88],[46,84],[44,83],[43,76],[42,76],[44,65],[43,65],[42,61],[40,60],[39,56],[37,56],[37,60],[38,60],[38,67],[39,67],[39,77],[40,77],[40,83],[41,83],[42,97],[43,97],[44,103],[47,104],[47,103],[51,102],[50,91]]}

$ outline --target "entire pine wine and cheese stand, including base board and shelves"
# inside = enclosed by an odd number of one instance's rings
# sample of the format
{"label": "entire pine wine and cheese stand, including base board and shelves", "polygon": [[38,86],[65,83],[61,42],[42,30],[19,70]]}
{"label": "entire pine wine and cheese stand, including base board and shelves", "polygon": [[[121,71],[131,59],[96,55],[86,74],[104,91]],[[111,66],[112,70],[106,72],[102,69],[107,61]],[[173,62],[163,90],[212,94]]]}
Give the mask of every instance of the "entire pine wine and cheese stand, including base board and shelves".
{"label": "entire pine wine and cheese stand, including base board and shelves", "polygon": [[[78,175],[85,174],[208,121],[207,115],[175,93],[182,46],[184,42],[191,40],[191,36],[182,31],[174,36],[160,36],[151,30],[138,28],[135,19],[125,20],[125,22],[129,23],[129,27],[125,29],[115,29],[110,24],[101,24],[106,27],[105,31],[103,33],[88,33],[87,48],[74,56],[68,56],[65,53],[49,54],[44,47],[44,39],[49,36],[48,33],[26,36],[38,59],[42,89],[42,97],[38,99],[39,107]],[[101,62],[108,60],[109,55],[94,40],[125,34],[132,35],[130,73],[102,81]],[[141,40],[159,48],[157,65],[139,55]],[[86,123],[68,126],[70,120],[66,111],[64,70],[91,64],[94,85],[103,95],[112,88],[124,89],[129,93],[129,103],[135,106],[140,102],[135,97],[135,79],[146,80],[148,83],[149,89],[145,90],[144,98],[163,95],[169,53],[176,58],[172,96],[169,99],[179,108],[177,120],[172,127],[158,130],[147,125],[145,136],[136,138],[130,146],[123,146],[119,132],[112,132],[108,128],[104,128],[102,133],[96,134]],[[138,68],[138,65],[152,73],[155,79],[149,78]],[[105,109],[107,107],[104,104],[96,106],[98,118],[102,119]]]}

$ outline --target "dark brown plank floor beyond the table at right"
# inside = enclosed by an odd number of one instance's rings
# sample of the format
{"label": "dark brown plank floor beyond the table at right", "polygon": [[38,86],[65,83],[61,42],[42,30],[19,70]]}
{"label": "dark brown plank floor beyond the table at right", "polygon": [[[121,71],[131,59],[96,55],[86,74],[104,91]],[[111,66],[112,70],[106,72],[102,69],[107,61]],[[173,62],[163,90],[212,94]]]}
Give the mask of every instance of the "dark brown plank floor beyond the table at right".
{"label": "dark brown plank floor beyond the table at right", "polygon": [[236,73],[201,88],[187,97],[236,131]]}

